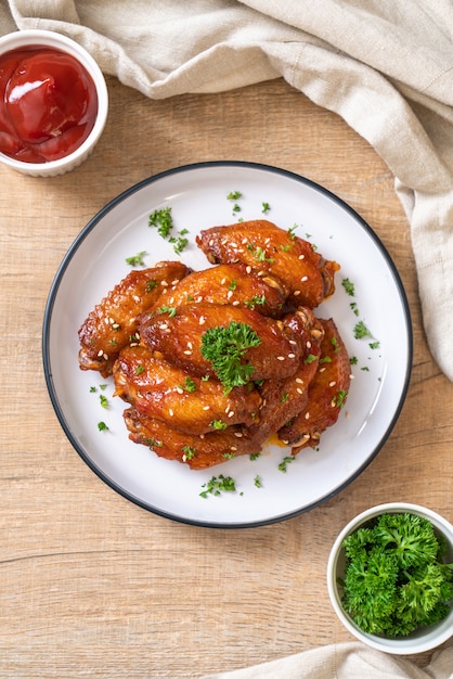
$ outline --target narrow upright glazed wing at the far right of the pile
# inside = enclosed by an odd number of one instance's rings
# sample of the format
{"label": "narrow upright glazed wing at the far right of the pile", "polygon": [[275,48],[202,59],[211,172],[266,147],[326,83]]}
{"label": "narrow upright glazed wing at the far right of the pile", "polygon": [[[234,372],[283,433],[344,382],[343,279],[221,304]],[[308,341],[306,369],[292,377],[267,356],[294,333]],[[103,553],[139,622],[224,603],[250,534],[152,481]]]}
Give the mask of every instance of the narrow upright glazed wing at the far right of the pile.
{"label": "narrow upright glazed wing at the far right of the pile", "polygon": [[321,320],[321,324],[324,338],[320,366],[309,386],[307,406],[279,432],[279,438],[293,448],[293,453],[318,446],[321,434],[338,420],[349,390],[350,362],[345,344],[332,319]]}

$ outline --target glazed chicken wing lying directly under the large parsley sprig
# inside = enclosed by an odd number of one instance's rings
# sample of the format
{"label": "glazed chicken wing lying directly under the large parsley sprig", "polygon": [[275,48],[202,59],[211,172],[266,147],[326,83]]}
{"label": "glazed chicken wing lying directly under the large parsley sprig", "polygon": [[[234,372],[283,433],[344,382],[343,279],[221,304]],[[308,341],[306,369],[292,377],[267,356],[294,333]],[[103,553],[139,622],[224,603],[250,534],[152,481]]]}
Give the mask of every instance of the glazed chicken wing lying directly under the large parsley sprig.
{"label": "glazed chicken wing lying directly under the large parsley sprig", "polygon": [[241,358],[243,364],[250,367],[253,381],[284,377],[296,371],[301,354],[297,333],[254,309],[203,303],[186,305],[174,313],[165,311],[143,320],[140,336],[152,350],[161,353],[191,374],[216,375],[212,362],[202,353],[203,338],[213,329],[233,328],[232,324],[246,326],[259,338],[259,344],[247,348]]}

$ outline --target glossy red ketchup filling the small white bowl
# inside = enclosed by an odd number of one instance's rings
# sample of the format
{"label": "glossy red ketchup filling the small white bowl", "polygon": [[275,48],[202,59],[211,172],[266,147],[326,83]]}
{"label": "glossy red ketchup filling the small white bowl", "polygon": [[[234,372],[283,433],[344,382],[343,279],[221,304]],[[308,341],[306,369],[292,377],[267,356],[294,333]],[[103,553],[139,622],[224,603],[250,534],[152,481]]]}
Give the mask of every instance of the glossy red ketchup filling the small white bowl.
{"label": "glossy red ketchup filling the small white bowl", "polygon": [[0,152],[24,163],[57,161],[90,134],[94,82],[70,54],[53,48],[0,55]]}

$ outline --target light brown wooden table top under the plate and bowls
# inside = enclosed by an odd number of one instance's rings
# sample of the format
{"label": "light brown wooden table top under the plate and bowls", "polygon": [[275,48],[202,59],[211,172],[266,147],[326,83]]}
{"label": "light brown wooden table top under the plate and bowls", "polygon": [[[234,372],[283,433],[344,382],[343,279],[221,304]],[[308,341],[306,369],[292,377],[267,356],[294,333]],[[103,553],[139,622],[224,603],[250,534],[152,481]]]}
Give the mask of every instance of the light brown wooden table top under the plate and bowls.
{"label": "light brown wooden table top under the plate and bowls", "polygon": [[[108,88],[105,133],[77,170],[37,179],[0,168],[0,677],[192,678],[352,641],[325,586],[344,524],[400,499],[453,520],[453,387],[426,345],[393,177],[282,80],[158,102],[114,78]],[[379,454],[321,507],[259,528],[183,525],[114,492],[66,439],[41,363],[49,289],[87,221],[131,184],[210,159],[276,165],[337,193],[383,240],[413,315],[412,382]]]}

